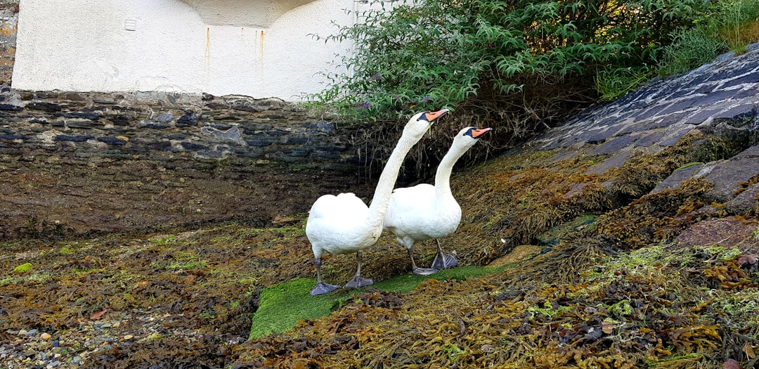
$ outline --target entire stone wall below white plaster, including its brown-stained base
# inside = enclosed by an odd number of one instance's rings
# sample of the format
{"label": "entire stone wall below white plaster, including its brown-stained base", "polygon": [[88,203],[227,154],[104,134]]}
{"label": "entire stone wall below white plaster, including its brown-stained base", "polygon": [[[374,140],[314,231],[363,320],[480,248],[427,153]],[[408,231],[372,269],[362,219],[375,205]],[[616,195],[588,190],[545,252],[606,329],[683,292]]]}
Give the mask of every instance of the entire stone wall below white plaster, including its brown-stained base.
{"label": "entire stone wall below white plaster, including its brown-stained base", "polygon": [[5,91],[0,240],[262,225],[370,195],[352,134],[278,99]]}

